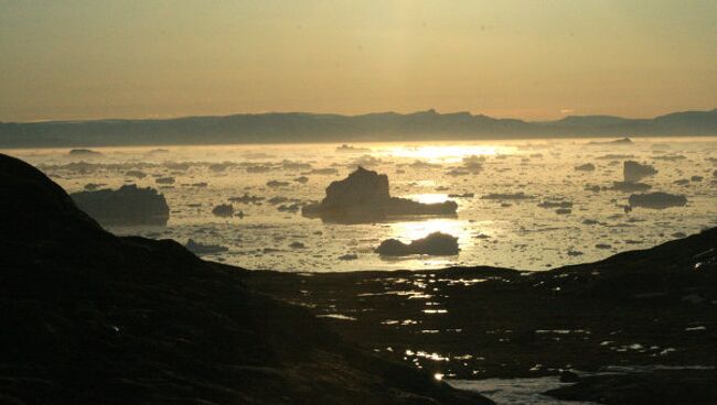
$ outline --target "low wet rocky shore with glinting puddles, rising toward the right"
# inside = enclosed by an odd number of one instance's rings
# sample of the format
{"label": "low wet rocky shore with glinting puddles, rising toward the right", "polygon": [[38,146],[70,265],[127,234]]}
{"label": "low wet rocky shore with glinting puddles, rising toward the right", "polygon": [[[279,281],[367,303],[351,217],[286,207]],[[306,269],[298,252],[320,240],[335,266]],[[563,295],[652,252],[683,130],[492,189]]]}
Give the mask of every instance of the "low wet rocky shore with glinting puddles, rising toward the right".
{"label": "low wet rocky shore with glinting puddles, rising toward the right", "polygon": [[446,377],[563,374],[577,384],[549,395],[717,403],[717,228],[538,273],[252,272],[245,282],[310,308],[347,340]]}

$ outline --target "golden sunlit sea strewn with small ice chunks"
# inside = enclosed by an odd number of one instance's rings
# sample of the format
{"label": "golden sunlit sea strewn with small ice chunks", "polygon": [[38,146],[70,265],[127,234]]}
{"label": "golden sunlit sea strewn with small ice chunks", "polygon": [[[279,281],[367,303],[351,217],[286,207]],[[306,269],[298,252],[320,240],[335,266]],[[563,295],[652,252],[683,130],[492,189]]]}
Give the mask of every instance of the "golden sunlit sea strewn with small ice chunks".
{"label": "golden sunlit sea strewn with small ice chunks", "polygon": [[[247,269],[493,265],[539,271],[649,248],[717,223],[716,138],[640,138],[628,144],[567,139],[93,151],[99,154],[68,154],[68,149],[4,152],[39,166],[68,193],[88,184],[157,188],[170,206],[167,227],[107,228],[118,234],[225,247],[227,251],[204,258]],[[628,160],[657,169],[641,180],[650,191],[684,195],[687,205],[625,209],[631,193],[609,187],[623,179]],[[595,169],[576,169],[588,163]],[[321,200],[331,182],[345,178],[357,165],[386,174],[393,196],[457,201],[457,218],[338,225],[301,216],[302,205]],[[173,183],[158,182],[170,177]],[[245,194],[258,198],[231,200]],[[212,214],[222,204],[232,204],[235,215]],[[409,242],[435,231],[458,237],[459,255],[387,260],[373,252],[385,239]]]}

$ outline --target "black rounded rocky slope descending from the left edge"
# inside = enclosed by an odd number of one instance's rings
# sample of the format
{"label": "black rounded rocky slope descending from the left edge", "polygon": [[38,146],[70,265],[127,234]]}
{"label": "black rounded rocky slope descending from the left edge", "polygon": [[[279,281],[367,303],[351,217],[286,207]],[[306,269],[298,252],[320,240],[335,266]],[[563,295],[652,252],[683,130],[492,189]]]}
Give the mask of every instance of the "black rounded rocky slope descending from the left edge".
{"label": "black rounded rocky slope descending from the left edge", "polygon": [[490,404],[346,342],[244,271],[117,238],[0,155],[0,403]]}

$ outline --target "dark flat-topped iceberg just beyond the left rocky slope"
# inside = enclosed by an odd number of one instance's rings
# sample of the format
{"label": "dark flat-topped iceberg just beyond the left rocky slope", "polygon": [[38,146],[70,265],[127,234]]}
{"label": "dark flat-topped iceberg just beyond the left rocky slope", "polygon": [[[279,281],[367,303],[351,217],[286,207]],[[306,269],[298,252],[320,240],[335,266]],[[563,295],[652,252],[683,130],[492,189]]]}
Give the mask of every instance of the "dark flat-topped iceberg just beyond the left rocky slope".
{"label": "dark flat-topped iceberg just beyond the left rocky slope", "polygon": [[77,206],[101,225],[167,225],[169,206],[156,189],[125,185],[116,190],[100,189],[71,195]]}

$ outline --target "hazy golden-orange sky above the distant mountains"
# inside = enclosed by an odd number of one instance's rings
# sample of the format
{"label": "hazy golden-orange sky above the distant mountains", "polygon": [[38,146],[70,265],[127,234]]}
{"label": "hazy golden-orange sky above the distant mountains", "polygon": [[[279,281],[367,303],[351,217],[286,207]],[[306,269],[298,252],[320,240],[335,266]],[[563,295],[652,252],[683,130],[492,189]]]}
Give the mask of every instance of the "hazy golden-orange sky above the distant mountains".
{"label": "hazy golden-orange sky above the distant mountains", "polygon": [[717,108],[717,1],[0,0],[0,120]]}

